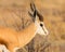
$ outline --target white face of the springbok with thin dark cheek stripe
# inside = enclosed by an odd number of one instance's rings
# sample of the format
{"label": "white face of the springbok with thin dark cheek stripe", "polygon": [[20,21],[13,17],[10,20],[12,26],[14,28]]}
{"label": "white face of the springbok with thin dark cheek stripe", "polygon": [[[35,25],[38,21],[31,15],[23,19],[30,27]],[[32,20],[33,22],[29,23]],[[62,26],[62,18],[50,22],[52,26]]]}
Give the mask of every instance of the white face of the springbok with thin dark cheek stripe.
{"label": "white face of the springbok with thin dark cheek stripe", "polygon": [[[42,24],[43,26],[40,26],[40,24]],[[37,28],[38,28],[38,29],[37,29],[37,32],[38,32],[39,35],[44,35],[44,36],[48,35],[48,30],[47,30],[43,22],[40,22],[40,23],[36,22],[36,26],[37,26]]]}

